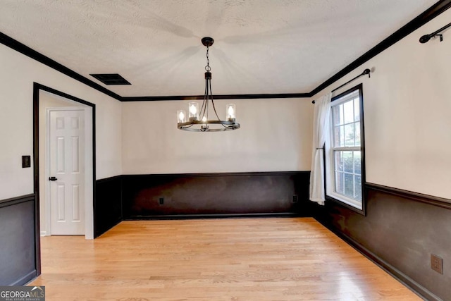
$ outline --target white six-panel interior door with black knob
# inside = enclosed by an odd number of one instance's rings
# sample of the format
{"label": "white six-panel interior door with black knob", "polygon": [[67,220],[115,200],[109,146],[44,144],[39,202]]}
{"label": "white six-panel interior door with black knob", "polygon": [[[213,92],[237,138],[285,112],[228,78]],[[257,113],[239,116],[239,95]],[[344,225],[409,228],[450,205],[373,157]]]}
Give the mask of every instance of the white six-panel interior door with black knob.
{"label": "white six-panel interior door with black knob", "polygon": [[84,111],[49,113],[51,234],[85,235]]}

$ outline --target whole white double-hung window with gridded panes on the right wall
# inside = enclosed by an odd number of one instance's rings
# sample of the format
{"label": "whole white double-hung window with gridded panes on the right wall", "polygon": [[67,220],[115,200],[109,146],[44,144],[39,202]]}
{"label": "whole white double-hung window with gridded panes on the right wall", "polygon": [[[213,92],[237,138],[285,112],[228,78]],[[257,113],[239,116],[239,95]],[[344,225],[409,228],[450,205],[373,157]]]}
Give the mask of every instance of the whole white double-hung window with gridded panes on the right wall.
{"label": "whole white double-hung window with gridded panes on the right wall", "polygon": [[326,195],[364,214],[364,125],[362,85],[330,102],[326,141]]}

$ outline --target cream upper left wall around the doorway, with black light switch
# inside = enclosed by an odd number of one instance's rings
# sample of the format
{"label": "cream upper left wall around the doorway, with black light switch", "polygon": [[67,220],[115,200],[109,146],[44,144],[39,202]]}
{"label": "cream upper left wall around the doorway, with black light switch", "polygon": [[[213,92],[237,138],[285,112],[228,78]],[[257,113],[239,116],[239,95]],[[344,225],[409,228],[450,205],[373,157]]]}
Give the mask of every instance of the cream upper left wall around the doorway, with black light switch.
{"label": "cream upper left wall around the doorway, with black light switch", "polygon": [[121,102],[0,44],[0,199],[33,193],[33,82],[96,104],[97,179],[121,169]]}

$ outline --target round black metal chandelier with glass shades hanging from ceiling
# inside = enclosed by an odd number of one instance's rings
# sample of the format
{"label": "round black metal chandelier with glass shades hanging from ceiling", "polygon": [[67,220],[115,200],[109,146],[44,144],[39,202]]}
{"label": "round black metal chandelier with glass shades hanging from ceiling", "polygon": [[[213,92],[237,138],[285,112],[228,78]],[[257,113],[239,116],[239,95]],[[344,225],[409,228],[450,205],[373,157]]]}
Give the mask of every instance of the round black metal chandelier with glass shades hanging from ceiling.
{"label": "round black metal chandelier with glass shades hanging from ceiling", "polygon": [[[211,37],[202,38],[202,44],[206,47],[206,66],[205,66],[205,93],[204,101],[199,109],[197,102],[188,102],[188,116],[185,110],[177,111],[177,128],[180,130],[189,130],[191,132],[219,132],[224,130],[237,130],[240,123],[235,121],[235,104],[226,105],[226,120],[221,121],[216,107],[214,106],[213,95],[211,94],[211,67],[209,61],[209,47],[213,45],[214,39]],[[216,118],[209,119],[209,111],[213,109]],[[211,114],[213,115],[213,114]],[[188,118],[188,120],[187,120]]]}

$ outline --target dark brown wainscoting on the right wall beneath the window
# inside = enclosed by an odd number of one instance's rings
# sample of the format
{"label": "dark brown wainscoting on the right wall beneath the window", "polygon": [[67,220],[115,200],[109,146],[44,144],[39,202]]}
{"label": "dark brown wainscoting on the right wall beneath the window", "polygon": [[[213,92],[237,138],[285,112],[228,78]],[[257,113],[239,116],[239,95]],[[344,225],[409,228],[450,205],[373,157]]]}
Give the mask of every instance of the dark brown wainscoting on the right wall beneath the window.
{"label": "dark brown wainscoting on the right wall beneath the window", "polygon": [[[451,300],[450,199],[366,184],[367,216],[326,202],[315,218],[427,300]],[[431,269],[443,258],[443,275]]]}

